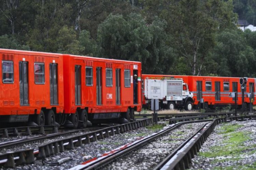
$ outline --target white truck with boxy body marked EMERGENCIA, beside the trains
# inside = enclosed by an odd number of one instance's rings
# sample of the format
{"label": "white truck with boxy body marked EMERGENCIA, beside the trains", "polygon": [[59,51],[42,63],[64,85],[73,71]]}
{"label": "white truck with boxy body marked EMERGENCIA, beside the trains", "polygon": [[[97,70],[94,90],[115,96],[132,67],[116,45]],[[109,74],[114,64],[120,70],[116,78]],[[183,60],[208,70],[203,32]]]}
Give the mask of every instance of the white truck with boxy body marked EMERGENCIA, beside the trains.
{"label": "white truck with boxy body marked EMERGENCIA, beside the trains", "polygon": [[144,95],[146,100],[159,99],[162,108],[193,108],[193,93],[182,79],[145,79]]}

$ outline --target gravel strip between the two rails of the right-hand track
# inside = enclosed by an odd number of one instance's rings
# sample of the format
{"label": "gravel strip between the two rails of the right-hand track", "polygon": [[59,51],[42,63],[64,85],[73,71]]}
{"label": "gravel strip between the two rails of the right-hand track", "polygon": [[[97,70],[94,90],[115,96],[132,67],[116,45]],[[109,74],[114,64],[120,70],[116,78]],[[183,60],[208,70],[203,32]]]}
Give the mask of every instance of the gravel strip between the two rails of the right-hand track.
{"label": "gravel strip between the two rails of the right-hand track", "polygon": [[159,137],[142,148],[117,159],[106,166],[107,169],[147,170],[156,167],[165,157],[196,133],[207,122],[189,123]]}

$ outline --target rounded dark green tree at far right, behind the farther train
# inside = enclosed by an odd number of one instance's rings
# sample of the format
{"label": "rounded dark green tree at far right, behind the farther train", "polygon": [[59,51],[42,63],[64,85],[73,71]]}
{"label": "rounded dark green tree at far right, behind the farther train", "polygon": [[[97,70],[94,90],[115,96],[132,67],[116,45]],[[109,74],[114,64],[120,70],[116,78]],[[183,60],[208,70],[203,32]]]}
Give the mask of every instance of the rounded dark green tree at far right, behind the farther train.
{"label": "rounded dark green tree at far right, behind the farther train", "polygon": [[255,75],[255,51],[247,45],[245,34],[239,30],[224,30],[217,36],[213,58],[218,63],[216,73],[227,77]]}

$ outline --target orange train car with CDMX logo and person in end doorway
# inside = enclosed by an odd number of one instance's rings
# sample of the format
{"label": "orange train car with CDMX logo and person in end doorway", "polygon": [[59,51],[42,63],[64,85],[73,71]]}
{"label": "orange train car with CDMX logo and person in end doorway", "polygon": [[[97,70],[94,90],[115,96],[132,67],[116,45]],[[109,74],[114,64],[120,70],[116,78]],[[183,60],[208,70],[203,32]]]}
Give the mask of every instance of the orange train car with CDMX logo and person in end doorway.
{"label": "orange train car with CDMX logo and person in end doorway", "polygon": [[[141,110],[141,63],[76,55],[63,55],[65,113],[74,128],[134,119]],[[136,89],[133,75],[138,75]],[[108,120],[106,120],[108,119]]]}

